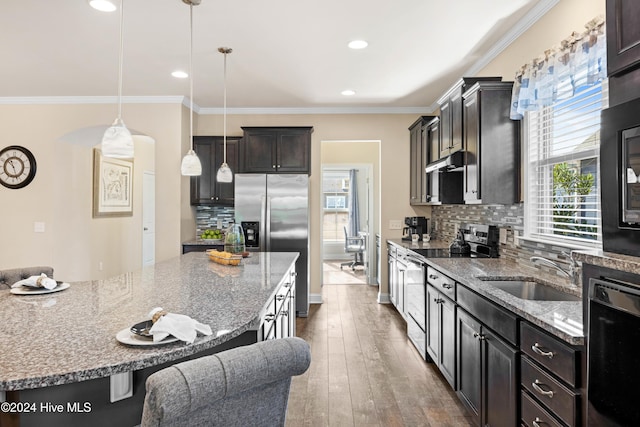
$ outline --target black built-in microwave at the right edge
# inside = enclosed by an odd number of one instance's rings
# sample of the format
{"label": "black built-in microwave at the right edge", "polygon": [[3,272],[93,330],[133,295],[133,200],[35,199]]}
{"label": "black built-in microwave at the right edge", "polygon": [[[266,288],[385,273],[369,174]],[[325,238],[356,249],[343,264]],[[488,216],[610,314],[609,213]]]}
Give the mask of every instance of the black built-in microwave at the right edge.
{"label": "black built-in microwave at the right edge", "polygon": [[640,99],[602,110],[602,248],[640,256]]}

